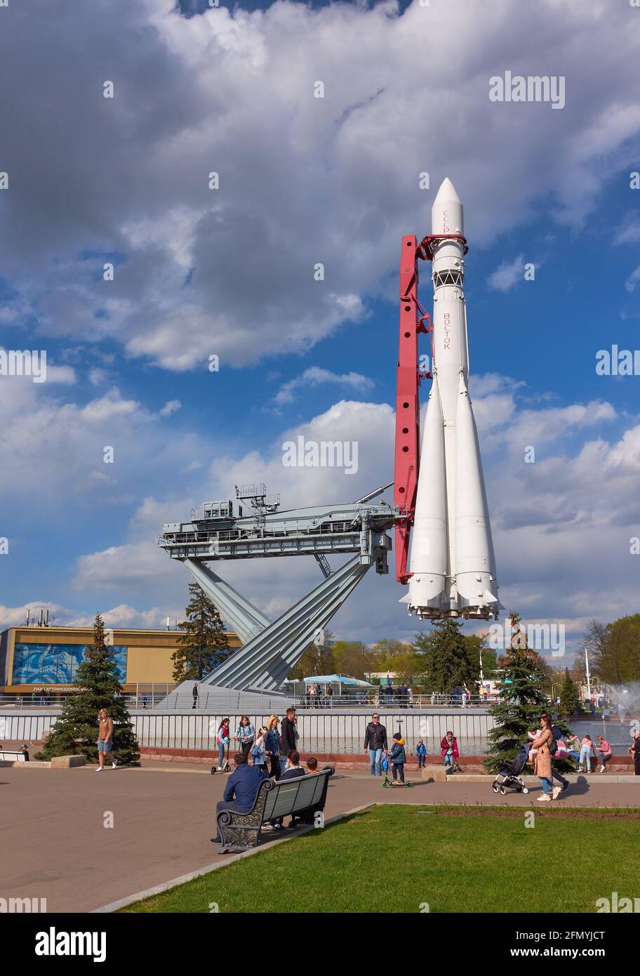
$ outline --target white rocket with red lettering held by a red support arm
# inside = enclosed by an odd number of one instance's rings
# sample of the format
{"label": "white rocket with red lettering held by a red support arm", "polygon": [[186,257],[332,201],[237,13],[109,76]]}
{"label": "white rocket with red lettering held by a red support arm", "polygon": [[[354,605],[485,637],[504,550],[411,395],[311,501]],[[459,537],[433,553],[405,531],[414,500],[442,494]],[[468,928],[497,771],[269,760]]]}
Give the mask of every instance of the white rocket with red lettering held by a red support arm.
{"label": "white rocket with red lettering held by a red support arm", "polygon": [[[431,209],[431,233],[463,234],[462,205],[445,180]],[[413,574],[401,602],[420,618],[498,617],[498,583],[478,434],[467,383],[464,247],[431,245],[433,383],[426,407],[411,541]]]}

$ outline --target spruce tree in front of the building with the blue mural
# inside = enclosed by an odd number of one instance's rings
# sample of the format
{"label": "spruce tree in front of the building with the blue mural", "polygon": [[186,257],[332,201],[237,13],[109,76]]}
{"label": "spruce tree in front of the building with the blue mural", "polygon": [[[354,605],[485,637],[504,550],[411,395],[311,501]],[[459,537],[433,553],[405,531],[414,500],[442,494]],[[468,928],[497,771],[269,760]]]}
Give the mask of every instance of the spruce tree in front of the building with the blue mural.
{"label": "spruce tree in front of the building with the blue mural", "polygon": [[71,695],[52,729],[42,752],[36,759],[56,755],[86,755],[89,762],[98,760],[98,713],[106,709],[113,719],[112,756],[119,765],[139,765],[140,752],[131,716],[122,698],[113,654],[104,642],[104,622],[96,614],[94,643],[85,652],[76,681],[81,690]]}

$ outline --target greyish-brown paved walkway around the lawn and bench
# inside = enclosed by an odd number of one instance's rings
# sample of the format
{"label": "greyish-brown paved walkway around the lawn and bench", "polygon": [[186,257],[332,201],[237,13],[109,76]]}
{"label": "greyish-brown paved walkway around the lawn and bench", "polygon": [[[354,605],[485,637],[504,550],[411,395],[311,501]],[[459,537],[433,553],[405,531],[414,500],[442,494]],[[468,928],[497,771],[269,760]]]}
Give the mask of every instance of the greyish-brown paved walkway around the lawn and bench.
{"label": "greyish-brown paved walkway around the lawn and bench", "polygon": [[[225,779],[174,764],[102,773],[94,766],[0,769],[0,896],[46,898],[50,913],[90,912],[228,861],[210,841]],[[534,790],[502,796],[493,793],[491,780],[418,781],[413,790],[382,790],[379,778],[337,774],[326,816],[374,801],[549,809],[551,804],[537,802]],[[640,778],[619,783],[580,776],[557,805],[640,807]],[[110,822],[112,827],[105,826]]]}

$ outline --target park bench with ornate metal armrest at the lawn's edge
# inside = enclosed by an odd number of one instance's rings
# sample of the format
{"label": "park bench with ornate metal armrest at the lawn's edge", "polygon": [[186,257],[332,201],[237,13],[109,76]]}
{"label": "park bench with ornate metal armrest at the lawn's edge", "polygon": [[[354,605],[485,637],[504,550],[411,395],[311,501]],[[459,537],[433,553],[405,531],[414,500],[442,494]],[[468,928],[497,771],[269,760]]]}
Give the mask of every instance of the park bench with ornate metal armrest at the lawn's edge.
{"label": "park bench with ornate metal armrest at the lawn's edge", "polygon": [[334,772],[333,766],[325,766],[317,773],[290,780],[264,780],[248,813],[221,810],[218,815],[220,853],[258,847],[264,825],[281,817],[295,816],[312,822],[311,818],[325,808],[329,777]]}

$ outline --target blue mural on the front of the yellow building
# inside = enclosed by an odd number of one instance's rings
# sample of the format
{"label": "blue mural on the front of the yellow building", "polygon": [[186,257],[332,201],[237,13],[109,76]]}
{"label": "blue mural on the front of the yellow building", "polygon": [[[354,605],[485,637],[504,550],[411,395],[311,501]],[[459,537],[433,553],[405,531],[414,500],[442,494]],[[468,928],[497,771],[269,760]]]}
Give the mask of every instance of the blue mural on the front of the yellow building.
{"label": "blue mural on the front of the yellow building", "polygon": [[[14,647],[14,684],[74,684],[78,668],[91,644],[16,644]],[[128,648],[110,647],[116,663],[118,680],[127,680]]]}

